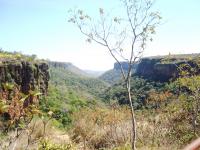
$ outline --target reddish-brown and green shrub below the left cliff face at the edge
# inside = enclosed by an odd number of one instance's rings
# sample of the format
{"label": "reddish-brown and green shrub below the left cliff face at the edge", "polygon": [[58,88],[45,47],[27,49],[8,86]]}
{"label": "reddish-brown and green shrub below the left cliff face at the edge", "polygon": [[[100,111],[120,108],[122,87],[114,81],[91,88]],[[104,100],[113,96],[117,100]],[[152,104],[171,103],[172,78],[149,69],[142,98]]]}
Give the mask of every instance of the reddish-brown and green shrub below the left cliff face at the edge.
{"label": "reddish-brown and green shrub below the left cliff face at the edge", "polygon": [[30,91],[28,95],[25,95],[20,92],[18,86],[11,83],[3,84],[0,93],[0,130],[5,134],[16,131],[15,135],[9,139],[8,148],[13,145],[13,148],[15,148],[16,140],[24,130],[29,129],[29,124],[34,115],[40,114],[37,109],[38,95],[40,93],[34,91]]}

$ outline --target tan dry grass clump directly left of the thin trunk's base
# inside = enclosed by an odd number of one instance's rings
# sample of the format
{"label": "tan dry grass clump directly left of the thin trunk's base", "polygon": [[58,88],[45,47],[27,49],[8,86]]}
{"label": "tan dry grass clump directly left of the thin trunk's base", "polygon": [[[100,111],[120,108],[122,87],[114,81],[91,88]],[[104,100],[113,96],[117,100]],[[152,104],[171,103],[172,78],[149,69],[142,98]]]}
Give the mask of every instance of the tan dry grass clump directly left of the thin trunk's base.
{"label": "tan dry grass clump directly left of the thin trunk's base", "polygon": [[114,148],[130,142],[127,108],[83,109],[74,114],[72,139],[83,149]]}

